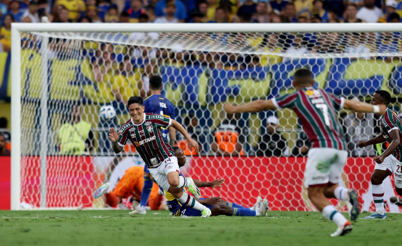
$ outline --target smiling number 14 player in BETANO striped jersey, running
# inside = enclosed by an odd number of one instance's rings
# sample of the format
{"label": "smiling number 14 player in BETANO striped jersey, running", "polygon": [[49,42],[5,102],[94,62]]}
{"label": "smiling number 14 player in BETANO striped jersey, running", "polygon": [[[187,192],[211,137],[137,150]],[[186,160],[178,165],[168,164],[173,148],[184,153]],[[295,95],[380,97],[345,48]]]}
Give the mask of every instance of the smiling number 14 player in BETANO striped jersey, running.
{"label": "smiling number 14 player in BETANO striped jersey, running", "polygon": [[189,133],[180,123],[162,115],[144,113],[144,102],[139,96],[132,96],[128,103],[131,119],[127,121],[116,133],[111,128],[109,139],[113,142],[112,149],[117,154],[130,140],[144,160],[154,177],[155,182],[162,189],[169,191],[181,203],[201,211],[201,217],[209,217],[211,210],[184,193],[181,188],[187,187],[195,198],[199,199],[201,193],[193,180],[180,176],[180,169],[173,149],[162,135],[162,127],[174,127],[187,139],[190,148],[198,152],[198,143],[191,139]]}

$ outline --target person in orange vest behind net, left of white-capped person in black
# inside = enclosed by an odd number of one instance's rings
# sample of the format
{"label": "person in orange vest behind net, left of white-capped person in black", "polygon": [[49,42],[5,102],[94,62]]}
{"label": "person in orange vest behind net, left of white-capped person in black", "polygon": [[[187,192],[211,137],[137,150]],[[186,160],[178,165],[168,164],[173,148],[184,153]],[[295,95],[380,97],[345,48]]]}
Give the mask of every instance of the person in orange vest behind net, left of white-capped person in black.
{"label": "person in orange vest behind net, left of white-capped person in black", "polygon": [[227,114],[226,119],[215,130],[215,140],[211,144],[213,153],[223,156],[242,156],[244,135],[238,127],[239,114]]}

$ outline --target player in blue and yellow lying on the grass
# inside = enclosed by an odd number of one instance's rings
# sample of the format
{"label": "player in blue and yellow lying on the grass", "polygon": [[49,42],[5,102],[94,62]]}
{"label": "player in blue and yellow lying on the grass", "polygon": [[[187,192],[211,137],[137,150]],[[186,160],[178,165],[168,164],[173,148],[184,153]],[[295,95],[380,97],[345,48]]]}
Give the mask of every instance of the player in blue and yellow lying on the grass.
{"label": "player in blue and yellow lying on the grass", "polygon": [[[176,154],[178,166],[182,167],[186,164],[186,156],[182,149],[177,149],[174,154]],[[224,179],[217,179],[212,182],[203,182],[199,180],[194,180],[194,183],[197,187],[222,187],[224,184]],[[166,205],[170,212],[172,212],[173,216],[201,216],[199,210],[183,207],[183,205],[176,199],[172,194],[168,191],[165,191],[166,196]],[[257,198],[257,202],[251,207],[243,207],[236,203],[231,203],[228,201],[222,200],[220,197],[209,197],[209,198],[201,198],[198,199],[199,203],[206,205],[211,211],[211,216],[217,215],[228,215],[228,216],[265,216],[268,210],[268,202],[267,199],[264,198],[261,201],[261,197]]]}

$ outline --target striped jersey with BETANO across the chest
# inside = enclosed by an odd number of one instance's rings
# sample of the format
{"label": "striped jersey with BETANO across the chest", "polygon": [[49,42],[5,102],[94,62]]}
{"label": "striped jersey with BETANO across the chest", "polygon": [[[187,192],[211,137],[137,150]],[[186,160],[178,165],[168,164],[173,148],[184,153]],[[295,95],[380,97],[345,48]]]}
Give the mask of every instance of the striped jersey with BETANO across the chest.
{"label": "striped jersey with BETANO across the chest", "polygon": [[148,168],[156,168],[160,163],[174,156],[174,151],[162,135],[161,127],[169,127],[172,120],[158,114],[144,113],[144,120],[135,124],[127,121],[120,129],[117,143],[124,147],[129,139]]}

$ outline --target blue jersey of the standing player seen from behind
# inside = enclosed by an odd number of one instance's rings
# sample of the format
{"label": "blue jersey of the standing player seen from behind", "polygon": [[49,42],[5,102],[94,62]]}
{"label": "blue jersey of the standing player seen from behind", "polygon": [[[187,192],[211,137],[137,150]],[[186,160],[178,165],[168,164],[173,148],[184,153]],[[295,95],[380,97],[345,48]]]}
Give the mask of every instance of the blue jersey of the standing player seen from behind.
{"label": "blue jersey of the standing player seen from behind", "polygon": [[[148,98],[144,100],[144,106],[145,113],[159,114],[171,119],[175,119],[176,117],[173,104],[162,95],[148,96]],[[167,141],[169,135],[168,129],[162,128],[162,134]]]}

